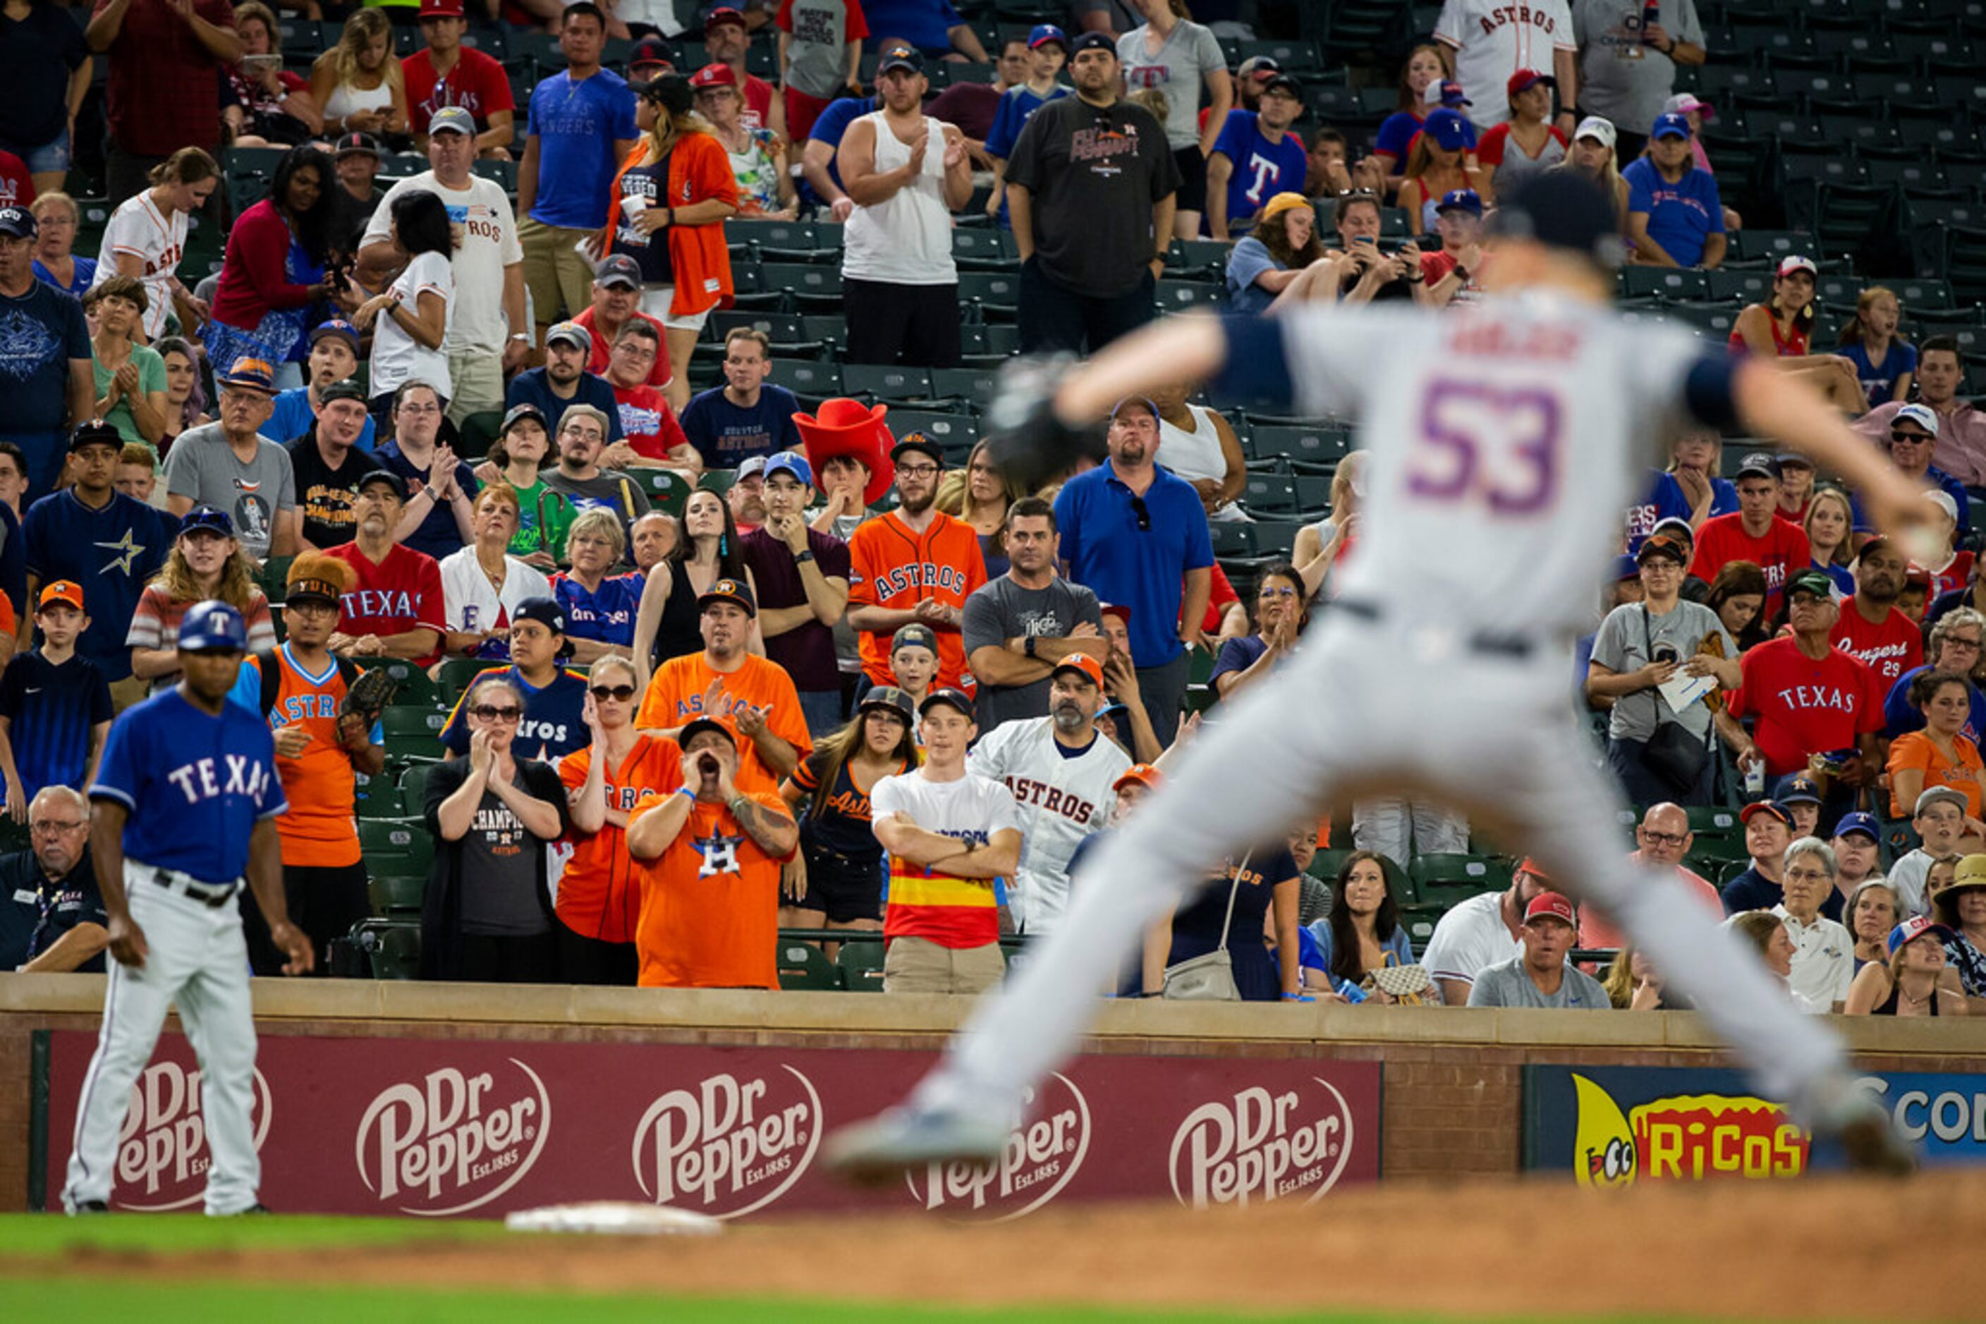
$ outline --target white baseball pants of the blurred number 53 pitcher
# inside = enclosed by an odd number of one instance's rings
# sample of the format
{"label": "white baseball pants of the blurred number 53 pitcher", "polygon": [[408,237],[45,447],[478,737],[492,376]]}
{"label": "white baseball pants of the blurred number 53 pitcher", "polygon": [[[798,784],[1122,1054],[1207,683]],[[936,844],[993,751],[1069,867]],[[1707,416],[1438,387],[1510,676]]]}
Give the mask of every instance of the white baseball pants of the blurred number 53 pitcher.
{"label": "white baseball pants of the blurred number 53 pitcher", "polygon": [[1460,804],[1555,879],[1579,879],[1569,891],[1613,915],[1760,1090],[1811,1116],[1815,1088],[1843,1070],[1839,1042],[1702,901],[1627,860],[1619,794],[1569,715],[1563,653],[1482,651],[1466,629],[1416,617],[1341,613],[1223,703],[1164,788],[1084,860],[1061,925],[975,1008],[914,1102],[1019,1116],[1025,1090],[1076,1050],[1094,991],[1206,883],[1207,861],[1279,840],[1327,800],[1406,792]]}

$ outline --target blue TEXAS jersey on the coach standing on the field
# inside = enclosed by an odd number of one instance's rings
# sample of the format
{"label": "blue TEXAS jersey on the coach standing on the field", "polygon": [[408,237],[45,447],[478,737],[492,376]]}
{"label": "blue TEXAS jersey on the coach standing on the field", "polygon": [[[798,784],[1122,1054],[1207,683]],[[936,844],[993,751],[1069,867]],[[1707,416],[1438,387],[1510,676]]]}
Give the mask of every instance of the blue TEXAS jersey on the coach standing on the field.
{"label": "blue TEXAS jersey on the coach standing on the field", "polygon": [[129,810],[127,860],[209,883],[238,879],[250,830],[290,808],[262,717],[238,703],[222,703],[220,715],[209,717],[177,687],[111,725],[89,798]]}

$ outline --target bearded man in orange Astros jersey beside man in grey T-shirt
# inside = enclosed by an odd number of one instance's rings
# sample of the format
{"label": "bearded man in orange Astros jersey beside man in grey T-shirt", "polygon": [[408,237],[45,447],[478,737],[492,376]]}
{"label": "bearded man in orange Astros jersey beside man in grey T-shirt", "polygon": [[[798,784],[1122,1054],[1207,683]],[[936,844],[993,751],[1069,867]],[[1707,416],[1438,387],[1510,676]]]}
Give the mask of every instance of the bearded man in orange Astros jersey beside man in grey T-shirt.
{"label": "bearded man in orange Astros jersey beside man in grey T-shirt", "polygon": [[[890,459],[896,461],[902,504],[848,540],[848,623],[862,631],[862,671],[874,685],[892,685],[890,639],[904,625],[920,623],[937,633],[933,685],[959,689],[971,685],[959,621],[965,619],[965,599],[987,582],[979,534],[931,504],[945,466],[935,441],[910,433],[896,443]],[[1194,488],[1186,490],[1192,494]],[[1200,510],[1198,496],[1194,510]],[[1204,534],[1206,520],[1200,528]]]}

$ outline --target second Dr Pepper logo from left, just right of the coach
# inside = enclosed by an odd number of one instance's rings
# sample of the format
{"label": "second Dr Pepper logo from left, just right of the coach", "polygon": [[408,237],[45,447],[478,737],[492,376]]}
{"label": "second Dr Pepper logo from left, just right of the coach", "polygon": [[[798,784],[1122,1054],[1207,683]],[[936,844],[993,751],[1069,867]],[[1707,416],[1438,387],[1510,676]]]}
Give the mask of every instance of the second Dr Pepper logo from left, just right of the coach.
{"label": "second Dr Pepper logo from left, just right of the coach", "polygon": [[441,1219],[481,1209],[544,1153],[552,1096],[516,1058],[500,1072],[443,1066],[373,1096],[355,1157],[367,1191],[397,1213]]}

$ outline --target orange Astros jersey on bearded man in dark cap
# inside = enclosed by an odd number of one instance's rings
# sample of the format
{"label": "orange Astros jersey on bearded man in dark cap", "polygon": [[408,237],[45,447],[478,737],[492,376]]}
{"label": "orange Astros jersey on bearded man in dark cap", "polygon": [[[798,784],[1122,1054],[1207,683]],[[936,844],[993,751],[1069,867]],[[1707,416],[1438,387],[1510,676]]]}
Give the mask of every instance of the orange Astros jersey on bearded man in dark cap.
{"label": "orange Astros jersey on bearded man in dark cap", "polygon": [[[858,528],[848,538],[848,605],[912,611],[931,597],[947,607],[965,607],[973,590],[987,582],[987,562],[979,554],[979,534],[971,524],[937,512],[922,534],[892,510]],[[892,631],[894,633],[894,631]],[[933,687],[971,693],[965,671],[965,635],[933,629],[937,635],[937,677]],[[894,685],[890,675],[890,633],[858,631],[862,671],[876,685]]]}

